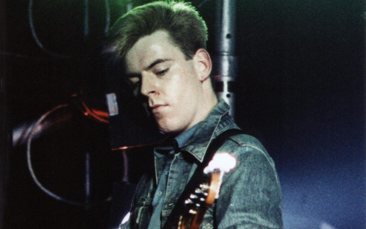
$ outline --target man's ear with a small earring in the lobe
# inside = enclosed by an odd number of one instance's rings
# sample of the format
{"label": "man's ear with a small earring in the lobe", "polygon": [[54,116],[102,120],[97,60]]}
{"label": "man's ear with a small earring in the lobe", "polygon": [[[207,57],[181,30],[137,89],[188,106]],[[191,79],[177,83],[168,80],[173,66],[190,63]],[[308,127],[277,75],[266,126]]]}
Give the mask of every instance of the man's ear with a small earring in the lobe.
{"label": "man's ear with a small earring in the lobe", "polygon": [[212,69],[210,54],[206,49],[200,48],[194,54],[193,60],[196,65],[199,81],[206,81],[210,77]]}

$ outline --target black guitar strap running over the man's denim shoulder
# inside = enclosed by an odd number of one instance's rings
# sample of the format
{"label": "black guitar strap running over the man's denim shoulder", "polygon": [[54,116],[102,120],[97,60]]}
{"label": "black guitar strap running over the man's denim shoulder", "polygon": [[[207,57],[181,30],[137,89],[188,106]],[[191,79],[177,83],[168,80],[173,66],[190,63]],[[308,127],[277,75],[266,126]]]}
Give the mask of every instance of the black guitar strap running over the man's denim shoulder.
{"label": "black guitar strap running over the man's denim shoulder", "polygon": [[243,134],[243,131],[240,129],[229,129],[221,133],[217,136],[209,145],[205,156],[203,157],[202,163],[199,164],[194,171],[192,177],[188,181],[186,188],[184,189],[182,195],[180,195],[178,201],[176,202],[167,222],[165,222],[163,229],[172,229],[176,228],[179,216],[184,211],[184,200],[186,200],[191,193],[197,188],[199,184],[202,183],[203,178],[203,169],[208,165],[210,160],[213,158],[215,152],[224,144],[224,142],[231,136],[236,134]]}

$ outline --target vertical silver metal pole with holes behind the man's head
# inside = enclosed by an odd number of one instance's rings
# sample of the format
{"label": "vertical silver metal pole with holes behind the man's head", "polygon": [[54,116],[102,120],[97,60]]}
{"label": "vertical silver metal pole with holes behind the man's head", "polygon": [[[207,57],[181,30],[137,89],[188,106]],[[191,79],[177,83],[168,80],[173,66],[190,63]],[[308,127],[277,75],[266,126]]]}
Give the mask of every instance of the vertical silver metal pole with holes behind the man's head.
{"label": "vertical silver metal pole with holes behind the man's head", "polygon": [[238,74],[235,56],[235,0],[216,1],[215,53],[213,57],[213,79],[216,95],[231,107],[235,115],[235,93],[233,85]]}

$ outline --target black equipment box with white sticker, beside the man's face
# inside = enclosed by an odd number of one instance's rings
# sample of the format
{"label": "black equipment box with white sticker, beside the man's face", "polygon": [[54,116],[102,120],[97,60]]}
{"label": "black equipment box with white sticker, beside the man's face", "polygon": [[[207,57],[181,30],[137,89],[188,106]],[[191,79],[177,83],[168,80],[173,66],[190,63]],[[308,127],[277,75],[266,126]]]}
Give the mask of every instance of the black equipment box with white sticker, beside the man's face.
{"label": "black equipment box with white sticker, beside the man's face", "polygon": [[112,150],[140,147],[164,138],[143,107],[143,98],[135,97],[133,89],[123,80],[120,63],[106,66],[106,100],[109,111]]}

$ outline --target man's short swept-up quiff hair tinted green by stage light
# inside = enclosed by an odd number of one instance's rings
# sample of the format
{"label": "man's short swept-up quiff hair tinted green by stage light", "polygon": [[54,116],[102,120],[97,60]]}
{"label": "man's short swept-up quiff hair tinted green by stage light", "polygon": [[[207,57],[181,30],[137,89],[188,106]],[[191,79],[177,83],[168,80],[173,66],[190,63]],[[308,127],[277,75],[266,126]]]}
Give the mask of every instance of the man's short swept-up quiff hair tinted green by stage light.
{"label": "man's short swept-up quiff hair tinted green by stage light", "polygon": [[114,61],[123,60],[139,38],[157,30],[167,31],[187,60],[199,48],[206,48],[206,23],[190,3],[154,1],[128,11],[117,20],[108,33],[104,53]]}

